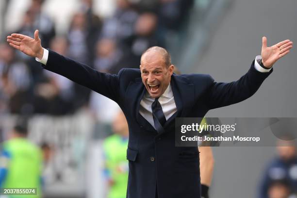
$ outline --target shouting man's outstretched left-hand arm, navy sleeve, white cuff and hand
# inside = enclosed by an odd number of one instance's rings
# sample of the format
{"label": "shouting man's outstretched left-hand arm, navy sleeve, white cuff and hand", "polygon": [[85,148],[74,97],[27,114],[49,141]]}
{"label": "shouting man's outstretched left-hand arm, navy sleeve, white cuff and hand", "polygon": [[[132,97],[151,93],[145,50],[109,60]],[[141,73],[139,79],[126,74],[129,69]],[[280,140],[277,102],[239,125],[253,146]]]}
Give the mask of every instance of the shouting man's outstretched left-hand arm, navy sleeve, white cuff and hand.
{"label": "shouting man's outstretched left-hand arm, navy sleeve, white cuff and hand", "polygon": [[[7,42],[10,46],[31,57],[41,60],[44,56],[38,30],[35,31],[34,38],[13,33],[7,36]],[[113,99],[115,102],[119,101],[119,78],[123,70],[118,75],[105,74],[51,50],[45,51],[49,51],[48,59],[42,65],[45,69],[65,76],[73,82]]]}

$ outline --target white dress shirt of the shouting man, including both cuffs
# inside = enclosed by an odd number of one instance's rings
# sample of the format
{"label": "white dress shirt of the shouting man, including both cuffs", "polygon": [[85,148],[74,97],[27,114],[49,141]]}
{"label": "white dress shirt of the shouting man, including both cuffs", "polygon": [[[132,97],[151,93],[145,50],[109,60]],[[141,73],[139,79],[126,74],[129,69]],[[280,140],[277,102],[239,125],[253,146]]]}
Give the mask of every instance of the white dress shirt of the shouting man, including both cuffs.
{"label": "white dress shirt of the shouting man, including both cuffs", "polygon": [[[44,50],[44,53],[43,53],[42,59],[39,60],[38,58],[36,58],[36,61],[42,63],[43,65],[47,65],[48,58],[49,58],[49,50],[48,49],[43,49],[43,50]],[[270,69],[264,69],[258,63],[258,61],[261,60],[261,59],[262,59],[261,55],[256,56],[256,60],[255,60],[256,70],[258,70],[260,72],[263,72],[263,73],[269,72],[272,67]],[[153,120],[153,117],[152,117],[152,110],[151,110],[151,104],[154,102],[154,100],[155,99],[150,97],[150,95],[146,91],[144,97],[140,101],[139,113],[146,120],[148,120],[148,122],[151,124],[151,126],[153,126],[155,128],[154,120]],[[162,96],[158,100],[159,100],[159,102],[161,104],[161,107],[162,107],[162,110],[163,110],[163,113],[165,115],[166,120],[168,120],[175,112],[177,112],[177,108],[176,108],[176,104],[175,104],[175,101],[174,101],[171,84],[168,85],[168,87],[166,88],[164,94],[162,94]]]}

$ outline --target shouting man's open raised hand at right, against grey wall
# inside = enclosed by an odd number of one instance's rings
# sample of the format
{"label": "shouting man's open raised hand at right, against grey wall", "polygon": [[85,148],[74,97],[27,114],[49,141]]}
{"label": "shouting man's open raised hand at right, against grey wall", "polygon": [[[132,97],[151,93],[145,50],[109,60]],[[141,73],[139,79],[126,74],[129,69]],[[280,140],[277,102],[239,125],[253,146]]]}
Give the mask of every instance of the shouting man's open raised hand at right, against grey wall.
{"label": "shouting man's open raised hand at right, against grey wall", "polygon": [[274,46],[267,47],[267,38],[262,38],[262,63],[265,67],[272,67],[281,57],[285,56],[293,48],[293,42],[290,40],[281,41]]}

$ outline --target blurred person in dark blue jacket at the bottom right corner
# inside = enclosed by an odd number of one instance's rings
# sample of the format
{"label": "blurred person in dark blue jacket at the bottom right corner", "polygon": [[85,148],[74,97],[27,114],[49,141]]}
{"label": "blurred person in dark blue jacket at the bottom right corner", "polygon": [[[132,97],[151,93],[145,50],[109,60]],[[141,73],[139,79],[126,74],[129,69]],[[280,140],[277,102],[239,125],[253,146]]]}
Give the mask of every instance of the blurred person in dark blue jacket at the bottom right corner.
{"label": "blurred person in dark blue jacket at the bottom right corner", "polygon": [[279,140],[278,155],[264,172],[259,198],[269,198],[268,189],[274,181],[287,181],[293,193],[297,193],[297,152],[293,142]]}

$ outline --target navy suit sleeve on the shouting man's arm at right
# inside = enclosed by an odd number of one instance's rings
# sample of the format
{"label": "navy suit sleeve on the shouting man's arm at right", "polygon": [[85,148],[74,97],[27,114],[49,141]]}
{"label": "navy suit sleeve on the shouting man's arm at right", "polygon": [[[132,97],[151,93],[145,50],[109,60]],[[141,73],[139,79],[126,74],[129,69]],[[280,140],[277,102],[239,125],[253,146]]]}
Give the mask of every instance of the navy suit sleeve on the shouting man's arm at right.
{"label": "navy suit sleeve on the shouting man's arm at right", "polygon": [[253,61],[247,73],[237,81],[214,82],[214,79],[210,77],[206,100],[209,109],[228,106],[251,97],[272,71],[273,68],[267,73],[257,71]]}

